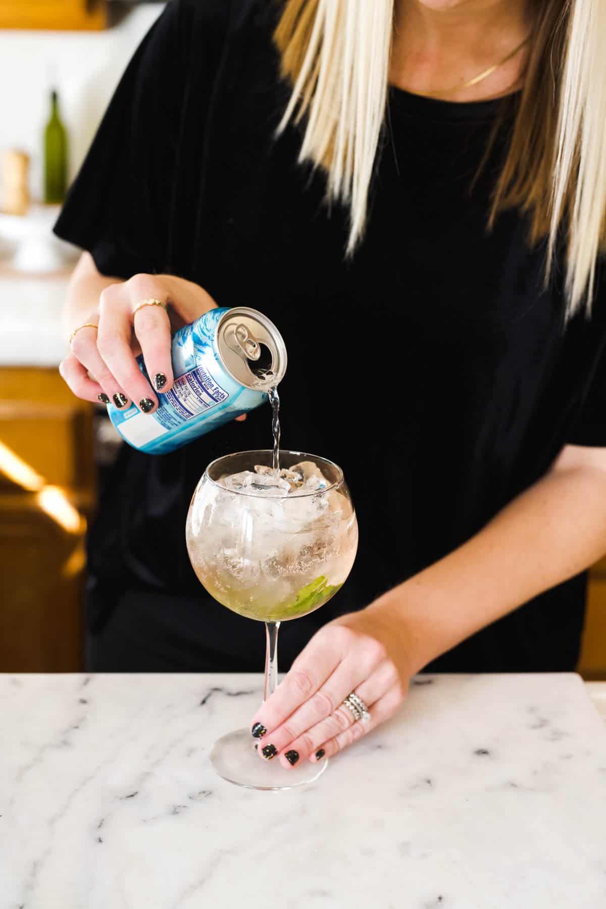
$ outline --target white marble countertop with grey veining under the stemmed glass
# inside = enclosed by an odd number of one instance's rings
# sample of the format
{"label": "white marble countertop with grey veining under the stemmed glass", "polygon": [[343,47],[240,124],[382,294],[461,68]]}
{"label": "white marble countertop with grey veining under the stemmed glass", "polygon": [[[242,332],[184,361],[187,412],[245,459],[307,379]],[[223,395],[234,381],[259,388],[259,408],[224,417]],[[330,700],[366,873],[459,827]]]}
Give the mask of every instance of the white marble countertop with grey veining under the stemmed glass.
{"label": "white marble countertop with grey veining under the stemmed glass", "polygon": [[0,676],[0,909],[599,909],[606,728],[578,676],[425,676],[283,793],[215,777],[257,675]]}

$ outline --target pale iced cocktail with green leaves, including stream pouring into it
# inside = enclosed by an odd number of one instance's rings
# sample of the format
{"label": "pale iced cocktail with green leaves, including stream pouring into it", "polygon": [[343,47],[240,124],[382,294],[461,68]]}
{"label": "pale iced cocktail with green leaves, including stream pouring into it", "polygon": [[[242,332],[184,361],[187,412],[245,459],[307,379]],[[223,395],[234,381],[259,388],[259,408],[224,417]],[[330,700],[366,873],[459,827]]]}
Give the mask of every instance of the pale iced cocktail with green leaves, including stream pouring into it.
{"label": "pale iced cocktail with green leaves, including stream pouring into it", "polygon": [[[353,505],[313,461],[280,470],[280,400],[273,409],[272,467],[201,484],[187,519],[194,571],[228,609],[283,622],[318,609],[350,573],[358,544]],[[253,465],[251,465],[253,466]],[[201,530],[212,509],[213,534]]]}

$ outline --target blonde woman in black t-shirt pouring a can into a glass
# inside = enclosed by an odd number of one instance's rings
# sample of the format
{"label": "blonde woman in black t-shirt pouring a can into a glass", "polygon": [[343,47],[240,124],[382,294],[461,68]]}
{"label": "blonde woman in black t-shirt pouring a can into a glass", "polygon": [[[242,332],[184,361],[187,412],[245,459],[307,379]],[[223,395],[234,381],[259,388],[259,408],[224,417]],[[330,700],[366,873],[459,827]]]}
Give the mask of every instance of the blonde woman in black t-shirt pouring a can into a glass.
{"label": "blonde woman in black t-shirt pouring a can into a glass", "polygon": [[[171,325],[253,305],[289,353],[283,444],[353,490],[353,573],[288,625],[302,652],[253,718],[284,766],[382,723],[423,667],[576,663],[606,551],[604,13],[173,0],[67,200],[75,394],[153,410]],[[205,464],[269,440],[262,408],[174,454],[124,447],[90,539],[92,668],[258,670],[184,523]]]}

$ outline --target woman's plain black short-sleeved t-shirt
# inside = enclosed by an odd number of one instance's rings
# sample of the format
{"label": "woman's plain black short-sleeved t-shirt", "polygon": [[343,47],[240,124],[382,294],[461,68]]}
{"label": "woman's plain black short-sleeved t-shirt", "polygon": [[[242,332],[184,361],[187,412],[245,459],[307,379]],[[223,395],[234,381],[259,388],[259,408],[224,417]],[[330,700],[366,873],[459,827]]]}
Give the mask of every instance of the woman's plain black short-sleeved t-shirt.
{"label": "woman's plain black short-sleeved t-shirt", "polygon": [[[368,228],[345,261],[346,213],[329,213],[323,175],[297,163],[297,128],[275,138],[288,87],[268,6],[167,6],[56,232],[106,275],[180,275],[283,334],[283,446],[343,466],[360,524],[343,591],[289,624],[301,646],[462,544],[563,445],[606,445],[606,299],[564,329],[561,287],[543,289],[544,247],[529,248],[525,218],[509,211],[486,229],[515,95],[451,104],[392,89]],[[263,407],[172,454],[124,446],[91,536],[95,581],[200,598],[184,544],[194,485],[214,457],[270,440]],[[571,669],[583,601],[581,575],[433,667]],[[219,612],[208,645],[242,651],[250,623]]]}

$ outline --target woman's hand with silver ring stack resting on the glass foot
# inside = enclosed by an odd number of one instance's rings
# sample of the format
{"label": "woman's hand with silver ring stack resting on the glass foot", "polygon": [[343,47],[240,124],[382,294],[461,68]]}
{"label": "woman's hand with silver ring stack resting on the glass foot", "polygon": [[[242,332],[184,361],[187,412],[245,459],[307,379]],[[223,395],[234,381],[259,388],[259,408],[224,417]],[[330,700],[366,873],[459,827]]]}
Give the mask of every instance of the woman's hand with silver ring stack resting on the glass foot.
{"label": "woman's hand with silver ring stack resting on the glass foot", "polygon": [[[396,713],[412,671],[396,620],[371,606],[324,625],[253,719],[265,760],[284,767],[332,757]],[[354,721],[343,704],[355,693],[370,721]]]}

